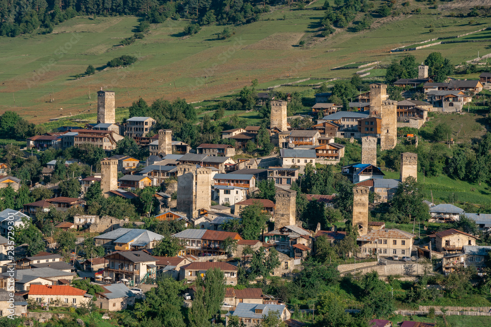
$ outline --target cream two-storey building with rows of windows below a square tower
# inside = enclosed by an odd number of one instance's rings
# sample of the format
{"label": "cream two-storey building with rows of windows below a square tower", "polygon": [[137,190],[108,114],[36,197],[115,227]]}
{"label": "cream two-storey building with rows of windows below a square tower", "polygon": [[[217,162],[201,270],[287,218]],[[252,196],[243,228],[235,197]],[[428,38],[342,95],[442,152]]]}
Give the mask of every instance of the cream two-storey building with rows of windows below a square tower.
{"label": "cream two-storey building with rows of windows below a square tower", "polygon": [[393,255],[410,257],[415,236],[396,228],[379,229],[359,236],[356,242],[361,248],[362,257],[377,254],[382,257]]}

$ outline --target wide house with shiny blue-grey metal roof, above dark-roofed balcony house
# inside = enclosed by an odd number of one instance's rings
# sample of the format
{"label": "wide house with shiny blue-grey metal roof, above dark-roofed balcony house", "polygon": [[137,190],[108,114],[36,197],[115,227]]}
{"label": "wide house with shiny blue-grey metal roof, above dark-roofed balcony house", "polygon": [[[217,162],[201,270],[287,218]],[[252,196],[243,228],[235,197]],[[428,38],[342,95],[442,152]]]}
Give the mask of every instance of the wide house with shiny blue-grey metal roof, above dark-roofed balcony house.
{"label": "wide house with shiny blue-grey metal roof, above dark-roofed balcony house", "polygon": [[164,236],[139,228],[117,228],[94,237],[96,246],[103,246],[106,252],[120,250],[153,249]]}

